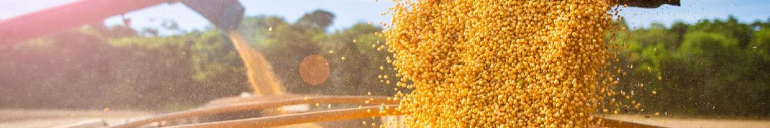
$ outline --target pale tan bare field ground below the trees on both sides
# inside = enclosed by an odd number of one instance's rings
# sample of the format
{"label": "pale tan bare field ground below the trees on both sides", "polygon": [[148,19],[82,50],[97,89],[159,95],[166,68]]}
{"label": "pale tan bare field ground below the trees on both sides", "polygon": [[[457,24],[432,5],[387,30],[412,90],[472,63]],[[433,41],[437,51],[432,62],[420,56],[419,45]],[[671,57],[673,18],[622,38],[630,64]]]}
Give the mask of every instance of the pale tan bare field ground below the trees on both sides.
{"label": "pale tan bare field ground below the trees on both sides", "polygon": [[[156,113],[142,110],[18,110],[0,109],[0,127],[56,127],[89,120],[105,120],[108,124],[125,123],[131,120],[151,117]],[[682,128],[770,128],[770,120],[728,120],[650,117],[644,115],[607,115],[605,118],[642,123],[652,126]],[[317,127],[295,125],[288,127]]]}

